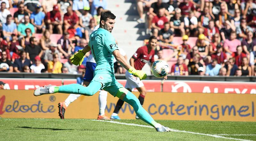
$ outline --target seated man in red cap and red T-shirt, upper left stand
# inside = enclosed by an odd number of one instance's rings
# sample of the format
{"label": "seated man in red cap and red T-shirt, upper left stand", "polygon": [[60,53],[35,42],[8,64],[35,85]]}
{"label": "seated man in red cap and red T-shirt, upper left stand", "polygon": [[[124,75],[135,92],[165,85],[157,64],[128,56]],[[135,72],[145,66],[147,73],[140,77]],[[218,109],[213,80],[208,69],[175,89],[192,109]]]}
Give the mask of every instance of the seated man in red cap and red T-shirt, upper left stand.
{"label": "seated man in red cap and red T-shirt, upper left stand", "polygon": [[53,29],[57,29],[58,34],[62,34],[62,20],[57,5],[54,5],[53,10],[47,13],[46,20],[51,34],[53,33]]}

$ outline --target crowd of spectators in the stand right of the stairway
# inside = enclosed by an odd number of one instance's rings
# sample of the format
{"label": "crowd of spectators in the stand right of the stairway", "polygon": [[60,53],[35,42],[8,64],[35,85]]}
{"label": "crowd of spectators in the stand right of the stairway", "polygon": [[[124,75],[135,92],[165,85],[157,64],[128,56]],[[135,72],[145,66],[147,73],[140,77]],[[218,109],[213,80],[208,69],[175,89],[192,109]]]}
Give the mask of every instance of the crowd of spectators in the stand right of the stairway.
{"label": "crowd of spectators in the stand right of the stairway", "polygon": [[[137,9],[137,21],[145,22],[159,42],[172,44],[174,36],[182,37],[169,55],[177,59],[171,75],[256,75],[255,1],[137,0]],[[188,44],[189,37],[198,37],[195,46]],[[163,58],[166,47],[159,44],[156,58],[171,60]]]}

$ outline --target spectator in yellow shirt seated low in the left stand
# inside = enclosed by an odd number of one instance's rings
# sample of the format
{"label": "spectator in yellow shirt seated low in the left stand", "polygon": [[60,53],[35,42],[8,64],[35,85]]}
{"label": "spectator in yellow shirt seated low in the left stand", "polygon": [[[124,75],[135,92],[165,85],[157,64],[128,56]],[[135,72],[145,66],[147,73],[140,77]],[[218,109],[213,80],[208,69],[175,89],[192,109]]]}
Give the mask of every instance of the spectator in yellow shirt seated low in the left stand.
{"label": "spectator in yellow shirt seated low in the left stand", "polygon": [[59,54],[54,53],[53,60],[48,62],[48,73],[58,74],[61,73],[62,64],[59,61]]}

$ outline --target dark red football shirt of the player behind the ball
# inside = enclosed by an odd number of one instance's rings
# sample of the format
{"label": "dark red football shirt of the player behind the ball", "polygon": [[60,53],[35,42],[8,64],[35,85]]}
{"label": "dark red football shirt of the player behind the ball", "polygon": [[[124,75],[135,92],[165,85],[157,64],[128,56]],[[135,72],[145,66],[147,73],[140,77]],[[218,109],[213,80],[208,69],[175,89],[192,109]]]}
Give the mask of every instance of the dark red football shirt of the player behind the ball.
{"label": "dark red football shirt of the player behind the ball", "polygon": [[141,70],[142,67],[146,63],[148,63],[148,61],[155,62],[154,55],[155,55],[154,50],[151,50],[148,53],[148,47],[147,46],[142,46],[142,47],[138,48],[138,50],[132,56],[132,58],[135,59],[134,68],[137,69],[137,70]]}

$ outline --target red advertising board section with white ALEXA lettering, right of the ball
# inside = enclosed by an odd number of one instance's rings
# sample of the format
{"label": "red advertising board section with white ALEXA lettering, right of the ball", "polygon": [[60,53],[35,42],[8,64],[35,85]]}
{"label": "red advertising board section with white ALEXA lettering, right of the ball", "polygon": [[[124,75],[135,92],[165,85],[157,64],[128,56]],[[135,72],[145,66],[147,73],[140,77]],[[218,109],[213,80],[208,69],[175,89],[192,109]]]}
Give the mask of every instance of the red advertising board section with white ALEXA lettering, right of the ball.
{"label": "red advertising board section with white ALEXA lettering, right of the ball", "polygon": [[164,81],[163,92],[256,94],[256,83],[214,81]]}

